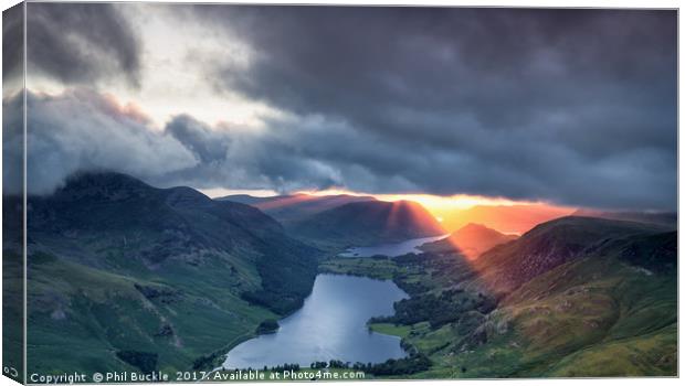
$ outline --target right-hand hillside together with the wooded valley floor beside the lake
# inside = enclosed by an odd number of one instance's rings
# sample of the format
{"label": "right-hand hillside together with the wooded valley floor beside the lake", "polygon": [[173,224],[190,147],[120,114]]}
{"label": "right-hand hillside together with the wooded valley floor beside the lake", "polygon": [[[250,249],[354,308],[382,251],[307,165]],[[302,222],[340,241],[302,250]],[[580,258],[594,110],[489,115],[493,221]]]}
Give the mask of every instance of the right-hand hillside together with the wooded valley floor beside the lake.
{"label": "right-hand hillside together with the wooded valley floor beside the lake", "polygon": [[676,374],[677,233],[653,224],[563,217],[476,260],[429,250],[322,269],[410,293],[371,329],[430,358],[418,379]]}

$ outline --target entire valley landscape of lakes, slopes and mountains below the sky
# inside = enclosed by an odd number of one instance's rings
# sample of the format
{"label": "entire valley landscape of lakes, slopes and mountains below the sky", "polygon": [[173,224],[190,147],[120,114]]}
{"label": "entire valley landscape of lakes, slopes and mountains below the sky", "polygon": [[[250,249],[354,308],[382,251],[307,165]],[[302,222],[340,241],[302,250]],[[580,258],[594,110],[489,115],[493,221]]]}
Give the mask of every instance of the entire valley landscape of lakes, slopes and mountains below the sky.
{"label": "entire valley landscape of lakes, slopes and mountains below the sky", "polygon": [[[520,236],[477,224],[445,235],[415,203],[324,203],[282,207],[283,226],[246,204],[117,173],[31,197],[30,368],[675,374],[667,224],[567,216]],[[323,291],[330,280],[345,285]],[[383,282],[399,292],[371,289]]]}

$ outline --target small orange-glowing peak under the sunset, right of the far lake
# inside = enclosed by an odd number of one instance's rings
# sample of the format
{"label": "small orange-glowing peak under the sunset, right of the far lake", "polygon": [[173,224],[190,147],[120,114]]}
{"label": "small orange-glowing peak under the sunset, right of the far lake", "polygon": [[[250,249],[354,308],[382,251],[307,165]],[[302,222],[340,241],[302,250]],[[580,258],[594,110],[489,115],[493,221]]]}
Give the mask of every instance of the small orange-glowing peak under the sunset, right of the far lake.
{"label": "small orange-glowing peak under the sunset, right of the far lake", "polygon": [[473,260],[484,251],[516,238],[517,236],[502,234],[485,225],[468,223],[453,232],[450,237],[424,244],[421,249],[433,253],[459,250]]}

